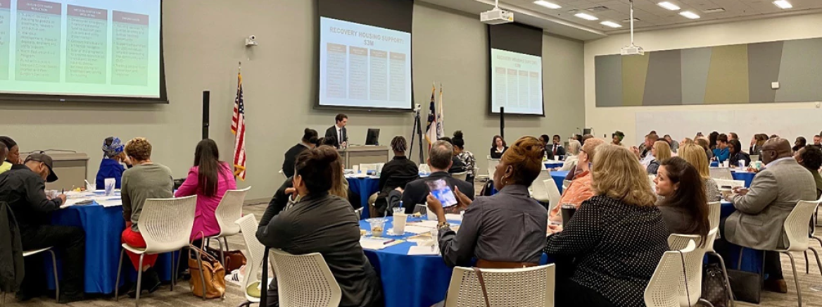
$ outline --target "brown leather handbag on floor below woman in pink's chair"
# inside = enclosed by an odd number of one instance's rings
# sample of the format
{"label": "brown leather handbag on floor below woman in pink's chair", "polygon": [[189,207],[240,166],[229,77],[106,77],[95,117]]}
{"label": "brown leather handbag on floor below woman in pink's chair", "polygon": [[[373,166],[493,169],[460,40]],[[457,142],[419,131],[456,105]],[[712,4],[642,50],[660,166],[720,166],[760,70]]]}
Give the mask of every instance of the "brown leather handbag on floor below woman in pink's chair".
{"label": "brown leather handbag on floor below woman in pink's chair", "polygon": [[[205,240],[203,243],[205,244]],[[196,247],[193,244],[188,246],[188,272],[192,275],[188,284],[196,296],[206,299],[222,297],[225,293],[225,269],[217,258],[203,248],[204,246]]]}

